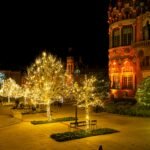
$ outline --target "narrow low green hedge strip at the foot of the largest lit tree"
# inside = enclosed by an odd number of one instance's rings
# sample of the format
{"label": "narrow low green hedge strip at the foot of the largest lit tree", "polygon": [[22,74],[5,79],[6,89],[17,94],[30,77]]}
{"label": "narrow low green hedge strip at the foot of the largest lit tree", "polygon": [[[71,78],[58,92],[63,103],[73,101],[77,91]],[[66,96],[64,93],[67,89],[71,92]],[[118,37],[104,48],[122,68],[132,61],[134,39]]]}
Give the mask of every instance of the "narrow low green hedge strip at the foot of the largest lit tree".
{"label": "narrow low green hedge strip at the foot of the largest lit tree", "polygon": [[39,120],[39,121],[31,121],[32,124],[46,124],[46,123],[55,123],[55,122],[63,122],[63,121],[73,121],[75,120],[75,117],[64,117],[64,118],[56,118],[51,121],[48,120]]}

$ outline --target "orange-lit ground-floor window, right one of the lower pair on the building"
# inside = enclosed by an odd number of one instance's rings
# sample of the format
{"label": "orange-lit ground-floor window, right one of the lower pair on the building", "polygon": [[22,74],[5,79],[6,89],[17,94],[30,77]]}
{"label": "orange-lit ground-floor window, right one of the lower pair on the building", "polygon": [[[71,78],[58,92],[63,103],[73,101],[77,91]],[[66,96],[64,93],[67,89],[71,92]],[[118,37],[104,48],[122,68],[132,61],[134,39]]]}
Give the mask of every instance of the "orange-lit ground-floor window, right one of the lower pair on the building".
{"label": "orange-lit ground-floor window, right one of the lower pair on the building", "polygon": [[122,77],[122,89],[133,89],[133,76]]}

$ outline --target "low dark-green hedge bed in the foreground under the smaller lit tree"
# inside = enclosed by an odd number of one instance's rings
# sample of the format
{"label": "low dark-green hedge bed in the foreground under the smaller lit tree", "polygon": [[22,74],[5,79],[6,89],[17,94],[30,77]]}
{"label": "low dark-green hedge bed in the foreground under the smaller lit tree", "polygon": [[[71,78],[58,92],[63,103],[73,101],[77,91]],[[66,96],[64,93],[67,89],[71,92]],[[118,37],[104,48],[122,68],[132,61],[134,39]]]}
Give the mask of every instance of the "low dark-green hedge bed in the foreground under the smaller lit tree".
{"label": "low dark-green hedge bed in the foreground under the smaller lit tree", "polygon": [[119,131],[114,129],[109,129],[109,128],[100,128],[95,130],[79,130],[74,132],[55,133],[50,135],[50,137],[55,139],[58,142],[62,142],[62,141],[80,139],[80,138],[96,136],[96,135],[111,134],[115,132],[119,132]]}

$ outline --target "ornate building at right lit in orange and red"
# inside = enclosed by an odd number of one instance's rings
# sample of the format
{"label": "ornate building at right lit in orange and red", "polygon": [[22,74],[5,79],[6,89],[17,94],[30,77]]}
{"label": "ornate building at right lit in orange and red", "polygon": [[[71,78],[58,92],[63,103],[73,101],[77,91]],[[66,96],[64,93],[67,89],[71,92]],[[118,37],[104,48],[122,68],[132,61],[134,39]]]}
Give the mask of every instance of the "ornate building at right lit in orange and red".
{"label": "ornate building at right lit in orange and red", "polygon": [[150,0],[115,0],[108,23],[110,94],[133,97],[150,76]]}

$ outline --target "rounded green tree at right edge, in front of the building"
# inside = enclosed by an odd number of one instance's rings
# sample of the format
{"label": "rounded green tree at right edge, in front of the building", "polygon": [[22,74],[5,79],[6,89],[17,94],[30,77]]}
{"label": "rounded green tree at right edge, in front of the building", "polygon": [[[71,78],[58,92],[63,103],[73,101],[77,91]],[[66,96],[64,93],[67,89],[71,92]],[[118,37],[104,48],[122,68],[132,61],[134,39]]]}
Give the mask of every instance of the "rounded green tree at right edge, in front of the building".
{"label": "rounded green tree at right edge, in front of the building", "polygon": [[150,105],[150,76],[139,84],[135,97],[138,103]]}

